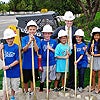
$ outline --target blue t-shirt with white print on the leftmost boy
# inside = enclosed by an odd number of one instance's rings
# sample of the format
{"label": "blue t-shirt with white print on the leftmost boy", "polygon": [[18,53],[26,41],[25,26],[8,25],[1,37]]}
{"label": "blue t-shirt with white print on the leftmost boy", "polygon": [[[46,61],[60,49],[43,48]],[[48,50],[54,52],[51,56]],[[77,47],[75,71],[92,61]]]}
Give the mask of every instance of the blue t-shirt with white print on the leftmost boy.
{"label": "blue t-shirt with white print on the leftmost boy", "polygon": [[[8,46],[8,44],[4,44],[4,59],[5,65],[8,66],[14,61],[19,61],[19,50],[18,45],[14,44],[12,46]],[[8,78],[18,78],[20,77],[20,66],[19,64],[13,66],[11,69],[6,70]]]}

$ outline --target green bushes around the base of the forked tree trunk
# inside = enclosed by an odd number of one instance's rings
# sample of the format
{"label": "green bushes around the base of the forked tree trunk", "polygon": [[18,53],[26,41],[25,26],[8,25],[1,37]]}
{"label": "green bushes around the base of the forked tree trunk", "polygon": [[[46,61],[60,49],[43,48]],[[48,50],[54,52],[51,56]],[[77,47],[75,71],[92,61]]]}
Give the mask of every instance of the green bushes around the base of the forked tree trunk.
{"label": "green bushes around the base of the forked tree trunk", "polygon": [[92,22],[88,22],[86,17],[82,14],[80,17],[75,19],[75,26],[81,28],[85,32],[85,40],[90,40],[90,33],[94,27],[100,27],[100,12],[96,14],[95,19]]}

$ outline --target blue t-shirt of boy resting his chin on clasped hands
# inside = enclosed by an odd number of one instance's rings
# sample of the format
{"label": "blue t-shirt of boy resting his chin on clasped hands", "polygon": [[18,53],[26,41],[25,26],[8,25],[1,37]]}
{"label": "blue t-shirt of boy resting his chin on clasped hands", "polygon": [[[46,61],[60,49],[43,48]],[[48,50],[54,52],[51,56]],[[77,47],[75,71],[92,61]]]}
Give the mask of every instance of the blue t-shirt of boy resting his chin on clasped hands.
{"label": "blue t-shirt of boy resting his chin on clasped hands", "polygon": [[[36,43],[38,47],[40,48],[40,39],[35,36]],[[22,38],[22,48],[27,45],[29,42],[29,36],[25,36]],[[23,53],[23,69],[32,69],[32,49],[31,49],[31,44],[26,52]],[[38,69],[38,56],[37,53],[34,51],[34,67],[35,69]]]}

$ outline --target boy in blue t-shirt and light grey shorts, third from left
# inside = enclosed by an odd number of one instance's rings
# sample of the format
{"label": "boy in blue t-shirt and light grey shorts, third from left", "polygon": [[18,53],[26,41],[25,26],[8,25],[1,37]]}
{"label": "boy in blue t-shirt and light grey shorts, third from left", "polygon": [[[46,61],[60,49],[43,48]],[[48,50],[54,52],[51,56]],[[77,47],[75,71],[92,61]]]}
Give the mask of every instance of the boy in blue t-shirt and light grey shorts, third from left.
{"label": "boy in blue t-shirt and light grey shorts, third from left", "polygon": [[[43,37],[44,39],[41,41],[41,57],[42,57],[42,68],[43,72],[41,74],[41,82],[40,82],[40,92],[43,91],[44,82],[46,79],[46,69],[47,69],[47,49],[49,49],[49,90],[50,90],[50,84],[52,80],[55,80],[55,57],[54,52],[57,45],[56,40],[51,39],[50,36],[52,35],[52,27],[50,25],[45,25],[43,27]],[[49,42],[49,46],[47,46],[47,43]]]}

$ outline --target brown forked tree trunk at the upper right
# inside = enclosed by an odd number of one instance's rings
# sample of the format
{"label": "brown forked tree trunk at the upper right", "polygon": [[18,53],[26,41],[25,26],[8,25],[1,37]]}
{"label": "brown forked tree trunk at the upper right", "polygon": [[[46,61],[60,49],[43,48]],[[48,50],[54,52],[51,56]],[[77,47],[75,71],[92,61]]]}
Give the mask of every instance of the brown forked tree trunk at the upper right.
{"label": "brown forked tree trunk at the upper right", "polygon": [[93,21],[100,6],[100,0],[76,0],[82,8],[87,21]]}

